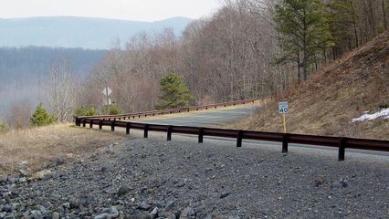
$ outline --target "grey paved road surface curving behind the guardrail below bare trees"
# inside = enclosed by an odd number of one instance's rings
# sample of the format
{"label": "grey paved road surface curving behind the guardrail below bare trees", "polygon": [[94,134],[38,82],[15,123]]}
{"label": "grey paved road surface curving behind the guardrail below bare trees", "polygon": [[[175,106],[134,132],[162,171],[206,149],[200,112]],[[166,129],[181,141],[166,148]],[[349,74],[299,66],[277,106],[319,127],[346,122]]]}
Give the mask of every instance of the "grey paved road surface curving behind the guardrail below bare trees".
{"label": "grey paved road surface curving behind the guardrail below bare trees", "polygon": [[251,115],[256,110],[256,106],[258,105],[248,104],[233,108],[194,111],[189,113],[142,118],[140,120],[133,121],[162,125],[217,127],[228,122],[241,120]]}

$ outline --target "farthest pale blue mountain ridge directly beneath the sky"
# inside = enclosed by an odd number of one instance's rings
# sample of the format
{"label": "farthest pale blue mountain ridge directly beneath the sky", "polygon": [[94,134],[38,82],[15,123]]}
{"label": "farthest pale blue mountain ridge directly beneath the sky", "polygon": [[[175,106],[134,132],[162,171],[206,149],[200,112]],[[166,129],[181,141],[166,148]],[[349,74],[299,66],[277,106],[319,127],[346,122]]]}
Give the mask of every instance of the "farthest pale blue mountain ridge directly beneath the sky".
{"label": "farthest pale blue mountain ridge directly beneath the sky", "polygon": [[139,22],[76,16],[0,18],[0,47],[82,47],[107,49],[119,37],[127,40],[143,31],[173,28],[181,35],[190,18],[173,17],[156,22]]}

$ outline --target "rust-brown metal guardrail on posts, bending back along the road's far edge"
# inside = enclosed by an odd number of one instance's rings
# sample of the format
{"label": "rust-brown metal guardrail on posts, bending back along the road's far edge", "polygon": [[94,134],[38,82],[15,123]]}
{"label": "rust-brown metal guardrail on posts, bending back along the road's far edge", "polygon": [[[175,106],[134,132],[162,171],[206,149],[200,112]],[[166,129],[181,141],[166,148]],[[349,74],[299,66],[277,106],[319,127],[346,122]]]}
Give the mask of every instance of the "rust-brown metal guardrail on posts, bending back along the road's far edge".
{"label": "rust-brown metal guardrail on posts, bending back along the road's far edge", "polygon": [[[242,100],[241,104],[252,102],[255,100]],[[217,106],[231,106],[226,104],[217,104]],[[234,105],[234,104],[233,104]],[[235,102],[237,105],[237,102]],[[192,107],[185,110],[202,110],[209,109],[211,107],[216,108],[215,105],[208,105],[202,107]],[[204,136],[224,137],[237,139],[237,147],[242,147],[243,140],[254,141],[276,141],[282,142],[282,152],[288,152],[289,143],[327,146],[332,148],[338,148],[338,160],[344,161],[346,149],[359,149],[367,151],[389,151],[389,141],[380,140],[366,140],[366,139],[352,139],[345,137],[329,137],[329,136],[313,136],[313,135],[301,135],[290,133],[277,133],[277,132],[263,132],[252,130],[225,130],[215,128],[199,128],[189,126],[172,126],[172,125],[157,125],[137,123],[131,121],[124,121],[125,118],[132,118],[133,116],[147,116],[156,115],[156,113],[175,113],[182,112],[184,109],[176,110],[159,110],[143,113],[122,114],[117,116],[100,116],[100,117],[80,117],[76,119],[77,126],[86,127],[89,124],[89,128],[93,128],[93,125],[98,125],[101,130],[102,127],[108,126],[110,130],[114,131],[116,127],[126,129],[126,133],[130,134],[130,130],[143,130],[143,137],[148,138],[149,131],[161,131],[166,132],[167,141],[172,141],[173,133],[189,134],[198,136],[198,142],[203,143]],[[121,120],[123,119],[124,120]]]}

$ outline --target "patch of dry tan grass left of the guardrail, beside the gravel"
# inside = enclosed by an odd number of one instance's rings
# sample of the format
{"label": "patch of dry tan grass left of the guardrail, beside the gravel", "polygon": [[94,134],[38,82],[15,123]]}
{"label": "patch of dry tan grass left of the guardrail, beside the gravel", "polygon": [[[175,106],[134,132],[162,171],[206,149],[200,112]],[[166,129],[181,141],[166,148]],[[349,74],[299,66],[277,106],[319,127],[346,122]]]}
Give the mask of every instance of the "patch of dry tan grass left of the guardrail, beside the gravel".
{"label": "patch of dry tan grass left of the guardrail, beside the gravel", "polygon": [[125,138],[118,132],[97,131],[60,124],[0,134],[0,175],[19,169],[41,171],[58,159],[80,159]]}

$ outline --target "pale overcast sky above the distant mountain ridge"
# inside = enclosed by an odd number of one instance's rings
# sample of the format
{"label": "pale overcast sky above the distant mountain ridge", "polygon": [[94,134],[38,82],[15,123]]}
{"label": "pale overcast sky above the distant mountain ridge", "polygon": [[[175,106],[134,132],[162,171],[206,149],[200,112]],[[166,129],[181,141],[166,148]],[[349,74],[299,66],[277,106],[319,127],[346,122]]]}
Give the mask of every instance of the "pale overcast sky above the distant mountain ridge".
{"label": "pale overcast sky above the distant mountain ridge", "polygon": [[172,16],[199,18],[219,0],[0,0],[0,17],[92,16],[155,21]]}

